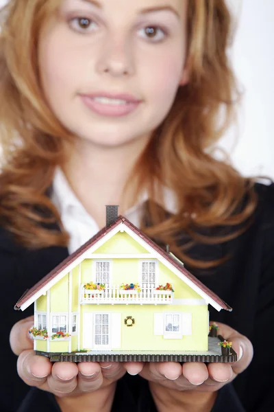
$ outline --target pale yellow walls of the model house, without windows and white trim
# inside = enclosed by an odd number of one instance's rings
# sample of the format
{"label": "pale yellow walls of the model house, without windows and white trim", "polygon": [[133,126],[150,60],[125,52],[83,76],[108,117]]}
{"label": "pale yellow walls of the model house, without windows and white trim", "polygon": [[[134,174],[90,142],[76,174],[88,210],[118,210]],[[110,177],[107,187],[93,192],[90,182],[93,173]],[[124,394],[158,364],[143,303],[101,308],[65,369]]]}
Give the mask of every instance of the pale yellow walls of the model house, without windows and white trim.
{"label": "pale yellow walls of the model house, without windows and white trim", "polygon": [[[147,253],[147,251],[130,238],[127,233],[117,233],[94,253]],[[150,253],[147,253],[150,260]],[[81,264],[81,283],[90,282],[94,266],[92,259],[86,259]],[[72,312],[78,312],[78,273],[79,266],[72,273]],[[138,259],[112,259],[112,284],[140,282],[140,262]],[[201,299],[200,295],[187,286],[177,275],[173,274],[164,264],[158,262],[158,283],[170,282],[175,289],[175,299]],[[58,284],[51,288],[51,312],[69,311],[69,274],[65,275]],[[47,297],[40,297],[37,301],[37,310],[47,311]],[[171,305],[81,305],[79,316],[80,347],[77,347],[77,335],[71,337],[71,350],[81,349],[84,312],[116,312],[121,313],[121,348],[120,350],[208,350],[208,306],[171,306]],[[155,312],[188,312],[192,313],[192,336],[183,336],[182,339],[164,339],[164,336],[154,336]],[[132,316],[136,324],[132,328],[123,324],[123,319]],[[145,336],[145,339],[144,339]],[[37,341],[37,350],[47,350],[46,341]],[[51,341],[51,352],[67,352],[68,341]]]}

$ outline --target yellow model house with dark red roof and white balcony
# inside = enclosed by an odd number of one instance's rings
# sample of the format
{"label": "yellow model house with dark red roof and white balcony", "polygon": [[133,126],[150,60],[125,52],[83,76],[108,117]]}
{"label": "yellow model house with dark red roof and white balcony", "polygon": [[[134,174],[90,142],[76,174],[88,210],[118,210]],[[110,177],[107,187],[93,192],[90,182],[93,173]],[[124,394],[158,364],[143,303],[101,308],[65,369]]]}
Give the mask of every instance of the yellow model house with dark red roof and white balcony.
{"label": "yellow model house with dark red roof and white balcony", "polygon": [[232,308],[117,206],[107,206],[105,228],[14,308],[33,303],[34,350],[51,361],[225,361],[216,342],[209,347],[208,304]]}

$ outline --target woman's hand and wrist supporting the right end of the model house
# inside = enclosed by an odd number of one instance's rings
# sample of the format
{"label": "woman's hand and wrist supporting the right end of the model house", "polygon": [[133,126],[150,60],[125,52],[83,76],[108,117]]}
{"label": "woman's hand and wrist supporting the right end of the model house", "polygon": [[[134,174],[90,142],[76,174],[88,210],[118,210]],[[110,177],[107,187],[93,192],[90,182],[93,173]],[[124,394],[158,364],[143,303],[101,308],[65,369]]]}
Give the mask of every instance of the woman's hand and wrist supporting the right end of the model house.
{"label": "woman's hand and wrist supporting the right end of the model house", "polygon": [[[249,339],[224,323],[219,323],[219,334],[227,341],[232,341],[232,347],[238,355],[235,363],[147,363],[140,372],[140,376],[149,380],[149,386],[153,398],[158,406],[165,403],[165,399],[177,397],[192,404],[193,401],[201,402],[201,396],[208,402],[210,394],[232,382],[236,376],[244,371],[253,358],[253,347]],[[172,391],[172,393],[171,393]],[[177,393],[176,393],[177,391]],[[184,397],[179,392],[184,391]],[[201,396],[199,396],[201,392]],[[214,403],[214,396],[211,397]],[[179,405],[179,404],[178,404]],[[211,408],[210,408],[211,409]],[[208,409],[208,410],[210,410]],[[171,411],[172,409],[169,409]],[[177,410],[177,409],[176,409]],[[192,409],[190,409],[192,410]],[[193,409],[194,410],[194,409]],[[198,409],[197,409],[198,410]],[[206,409],[201,409],[206,411]]]}

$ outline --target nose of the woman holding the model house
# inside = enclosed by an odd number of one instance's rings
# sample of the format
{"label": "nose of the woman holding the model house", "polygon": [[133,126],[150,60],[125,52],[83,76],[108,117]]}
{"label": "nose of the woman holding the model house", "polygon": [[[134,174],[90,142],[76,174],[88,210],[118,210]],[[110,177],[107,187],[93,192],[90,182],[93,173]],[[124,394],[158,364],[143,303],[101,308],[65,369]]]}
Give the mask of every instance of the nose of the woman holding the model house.
{"label": "nose of the woman holding the model house", "polygon": [[108,36],[97,62],[99,73],[110,73],[114,77],[134,73],[132,47],[125,39]]}

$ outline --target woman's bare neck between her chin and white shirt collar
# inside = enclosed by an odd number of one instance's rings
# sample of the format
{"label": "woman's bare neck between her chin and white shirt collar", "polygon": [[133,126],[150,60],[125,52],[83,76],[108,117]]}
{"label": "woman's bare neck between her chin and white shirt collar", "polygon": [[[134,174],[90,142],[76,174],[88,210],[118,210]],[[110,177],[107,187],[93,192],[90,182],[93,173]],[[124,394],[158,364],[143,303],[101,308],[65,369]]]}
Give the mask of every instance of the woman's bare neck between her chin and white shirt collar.
{"label": "woman's bare neck between her chin and white shirt collar", "polygon": [[99,147],[78,141],[69,151],[64,174],[99,227],[105,223],[105,205],[119,205],[120,214],[132,206],[123,197],[123,187],[146,145],[145,139],[123,147]]}

